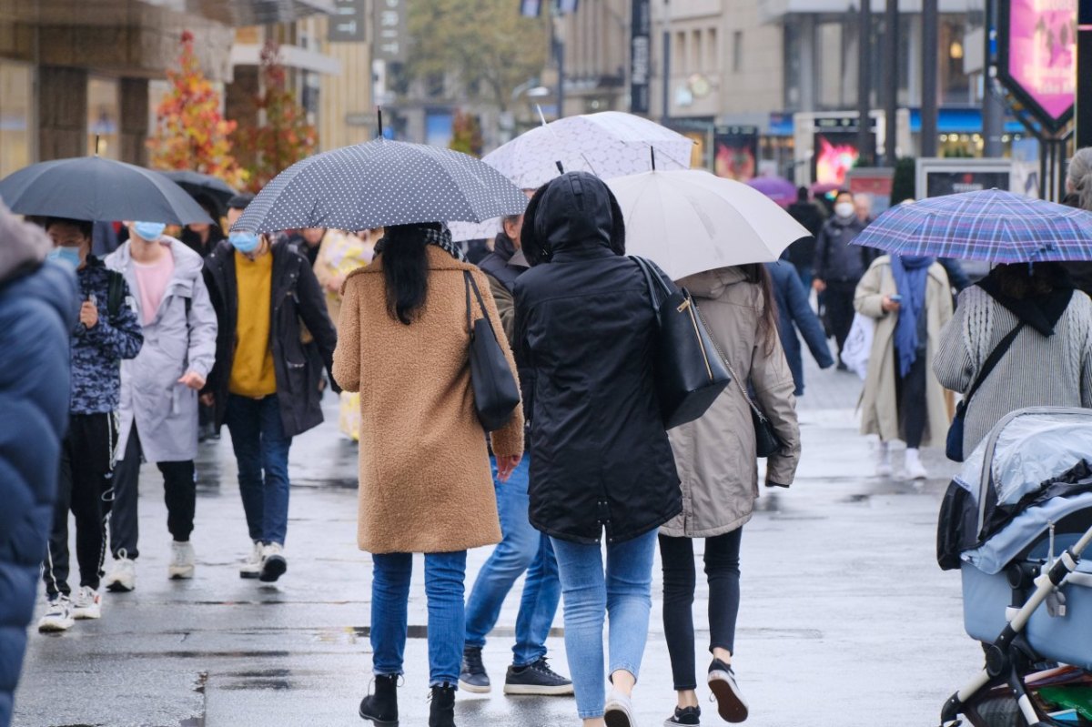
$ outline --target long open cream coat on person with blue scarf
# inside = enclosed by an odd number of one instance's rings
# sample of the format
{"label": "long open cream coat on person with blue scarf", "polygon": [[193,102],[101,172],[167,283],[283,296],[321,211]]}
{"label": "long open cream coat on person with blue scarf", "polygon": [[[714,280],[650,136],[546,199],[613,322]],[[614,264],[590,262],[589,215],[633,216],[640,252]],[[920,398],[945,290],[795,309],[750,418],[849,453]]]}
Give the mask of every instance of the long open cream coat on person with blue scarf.
{"label": "long open cream coat on person with blue scarf", "polygon": [[[865,390],[860,395],[860,433],[879,434],[885,442],[904,439],[899,420],[894,380],[894,329],[899,315],[886,313],[882,308],[883,297],[897,293],[894,277],[891,275],[891,258],[883,255],[873,262],[868,272],[860,278],[853,300],[858,313],[876,319],[876,336],[868,357]],[[929,278],[925,289],[925,314],[929,334],[926,349],[926,362],[928,362],[937,351],[940,329],[952,317],[951,286],[948,283],[948,274],[940,263],[934,263],[929,267]],[[925,401],[928,416],[922,445],[942,446],[951,420],[948,417],[945,390],[934,376],[933,367],[926,368],[928,373]]]}

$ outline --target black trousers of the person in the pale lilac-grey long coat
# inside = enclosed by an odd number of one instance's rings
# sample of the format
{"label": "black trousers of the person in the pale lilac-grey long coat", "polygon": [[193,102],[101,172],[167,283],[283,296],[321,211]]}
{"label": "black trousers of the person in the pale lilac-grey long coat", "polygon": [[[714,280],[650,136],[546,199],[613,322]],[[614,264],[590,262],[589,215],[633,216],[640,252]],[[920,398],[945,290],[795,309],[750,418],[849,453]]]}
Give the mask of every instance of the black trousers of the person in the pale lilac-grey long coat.
{"label": "black trousers of the person in the pale lilac-grey long coat", "polygon": [[[140,489],[140,464],[143,460],[136,422],[133,422],[126,444],[126,457],[114,470],[114,511],[110,513],[110,552],[115,558],[121,550],[136,560],[140,535],[136,520],[136,494]],[[193,461],[158,462],[163,473],[163,499],[167,503],[167,531],[178,543],[186,543],[193,532],[193,511],[197,506],[197,482]]]}

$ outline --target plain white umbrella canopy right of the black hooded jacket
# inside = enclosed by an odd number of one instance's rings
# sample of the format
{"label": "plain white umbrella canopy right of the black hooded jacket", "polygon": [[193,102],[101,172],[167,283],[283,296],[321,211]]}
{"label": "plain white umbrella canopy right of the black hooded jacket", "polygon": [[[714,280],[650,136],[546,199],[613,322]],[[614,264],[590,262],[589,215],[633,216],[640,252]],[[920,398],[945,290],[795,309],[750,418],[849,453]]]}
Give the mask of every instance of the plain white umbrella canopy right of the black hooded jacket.
{"label": "plain white umbrella canopy right of the black hooded jacket", "polygon": [[699,169],[607,181],[626,218],[626,251],[673,279],[728,265],[772,262],[808,231],[758,190]]}

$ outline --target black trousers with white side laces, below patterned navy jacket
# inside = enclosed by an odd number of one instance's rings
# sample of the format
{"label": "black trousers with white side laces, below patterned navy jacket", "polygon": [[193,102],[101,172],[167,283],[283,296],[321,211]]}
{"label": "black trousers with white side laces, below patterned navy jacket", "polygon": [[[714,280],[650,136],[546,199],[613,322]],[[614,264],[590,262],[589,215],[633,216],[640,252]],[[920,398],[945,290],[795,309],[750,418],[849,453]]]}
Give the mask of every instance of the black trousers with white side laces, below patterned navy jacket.
{"label": "black trousers with white side laces, below patterned navy jacket", "polygon": [[73,414],[61,442],[54,527],[43,580],[46,595],[69,595],[68,515],[75,517],[75,558],[80,585],[98,588],[106,556],[106,520],[114,497],[111,469],[118,443],[114,414]]}

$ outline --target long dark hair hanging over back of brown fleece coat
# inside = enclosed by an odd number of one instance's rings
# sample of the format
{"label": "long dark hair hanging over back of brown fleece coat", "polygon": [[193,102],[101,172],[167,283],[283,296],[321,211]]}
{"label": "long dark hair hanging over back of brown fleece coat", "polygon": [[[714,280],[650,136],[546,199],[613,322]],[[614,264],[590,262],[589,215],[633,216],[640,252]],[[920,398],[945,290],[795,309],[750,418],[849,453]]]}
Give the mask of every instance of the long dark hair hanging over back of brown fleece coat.
{"label": "long dark hair hanging over back of brown fleece coat", "polygon": [[428,297],[428,255],[425,231],[439,230],[439,224],[393,225],[384,230],[379,253],[383,257],[387,283],[387,312],[410,325]]}

